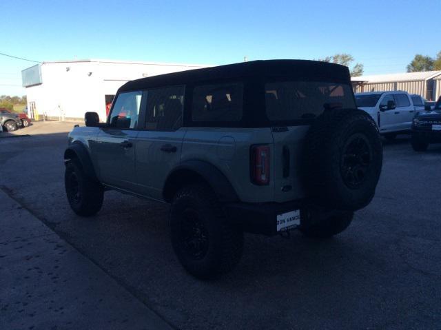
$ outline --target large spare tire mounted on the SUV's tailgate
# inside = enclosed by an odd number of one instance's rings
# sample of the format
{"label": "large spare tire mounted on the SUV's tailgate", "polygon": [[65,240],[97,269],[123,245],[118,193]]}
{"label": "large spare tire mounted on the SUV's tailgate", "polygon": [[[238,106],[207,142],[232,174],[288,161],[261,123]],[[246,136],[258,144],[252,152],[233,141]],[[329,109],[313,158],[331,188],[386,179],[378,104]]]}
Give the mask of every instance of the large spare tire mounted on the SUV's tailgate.
{"label": "large spare tire mounted on the SUV's tailgate", "polygon": [[365,207],[375,194],[381,167],[380,134],[366,112],[325,110],[309,127],[302,180],[317,205],[348,211]]}

